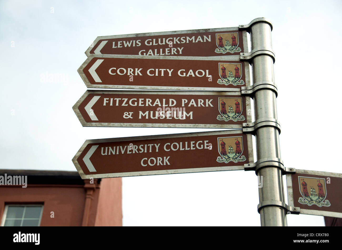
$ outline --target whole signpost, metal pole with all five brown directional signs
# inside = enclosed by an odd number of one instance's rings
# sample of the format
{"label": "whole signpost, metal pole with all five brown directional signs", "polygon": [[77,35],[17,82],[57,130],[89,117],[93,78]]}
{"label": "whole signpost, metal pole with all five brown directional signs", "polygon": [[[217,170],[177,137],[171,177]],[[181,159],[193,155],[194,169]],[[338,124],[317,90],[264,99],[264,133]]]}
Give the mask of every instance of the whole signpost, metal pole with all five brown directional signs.
{"label": "whole signpost, metal pole with all five brown directional signs", "polygon": [[[83,126],[242,128],[245,123],[244,131],[255,135],[258,161],[252,164],[251,135],[242,130],[87,140],[73,158],[82,179],[244,170],[247,163],[263,181],[262,226],[287,225],[289,209],[342,218],[342,174],[287,174],[285,203],[272,28],[269,20],[257,18],[234,28],[97,37],[78,69],[87,87],[195,91],[89,90],[73,107]],[[254,100],[254,122],[241,87]]]}

